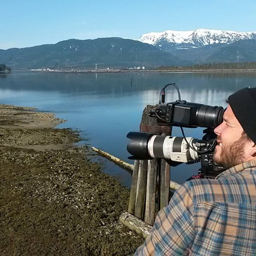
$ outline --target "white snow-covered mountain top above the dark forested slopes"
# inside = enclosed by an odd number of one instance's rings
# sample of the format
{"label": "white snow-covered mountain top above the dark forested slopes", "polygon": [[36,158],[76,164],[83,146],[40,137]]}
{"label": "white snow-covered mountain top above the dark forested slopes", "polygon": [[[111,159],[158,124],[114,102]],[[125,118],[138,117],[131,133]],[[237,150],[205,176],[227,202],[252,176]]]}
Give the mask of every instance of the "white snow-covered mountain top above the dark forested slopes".
{"label": "white snow-covered mountain top above the dark forested slopes", "polygon": [[[231,44],[238,40],[256,39],[256,32],[235,32],[227,30],[196,29],[194,31],[166,30],[143,34],[138,40],[161,47],[162,42],[205,46],[208,44]],[[158,45],[160,43],[160,45]]]}

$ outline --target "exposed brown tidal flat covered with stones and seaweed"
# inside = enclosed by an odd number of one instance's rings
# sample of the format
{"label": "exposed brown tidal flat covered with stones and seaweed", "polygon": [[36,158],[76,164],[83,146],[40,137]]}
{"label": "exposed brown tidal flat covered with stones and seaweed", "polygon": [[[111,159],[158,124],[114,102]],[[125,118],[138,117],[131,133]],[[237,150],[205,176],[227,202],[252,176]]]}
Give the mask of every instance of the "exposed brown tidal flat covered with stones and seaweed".
{"label": "exposed brown tidal flat covered with stones and seaweed", "polygon": [[87,158],[76,131],[0,105],[0,255],[128,255],[143,238],[119,216],[129,190]]}

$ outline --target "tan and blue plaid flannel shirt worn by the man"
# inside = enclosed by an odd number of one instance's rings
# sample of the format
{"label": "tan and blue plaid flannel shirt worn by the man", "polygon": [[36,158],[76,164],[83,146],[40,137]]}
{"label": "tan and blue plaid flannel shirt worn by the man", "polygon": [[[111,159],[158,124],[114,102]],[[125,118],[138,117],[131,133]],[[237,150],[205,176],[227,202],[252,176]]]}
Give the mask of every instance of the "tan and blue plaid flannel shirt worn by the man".
{"label": "tan and blue plaid flannel shirt worn by the man", "polygon": [[180,186],[134,255],[256,255],[256,160]]}

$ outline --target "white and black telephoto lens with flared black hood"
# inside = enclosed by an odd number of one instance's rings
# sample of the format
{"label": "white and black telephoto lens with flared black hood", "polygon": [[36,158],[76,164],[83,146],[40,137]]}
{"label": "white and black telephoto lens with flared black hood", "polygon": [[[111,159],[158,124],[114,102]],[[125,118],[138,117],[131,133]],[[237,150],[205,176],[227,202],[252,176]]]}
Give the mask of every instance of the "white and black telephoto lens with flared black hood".
{"label": "white and black telephoto lens with flared black hood", "polygon": [[[195,150],[188,146],[183,137],[154,135],[147,132],[129,132],[127,138],[131,139],[127,145],[128,152],[132,155],[129,159],[163,158],[174,162],[189,162],[198,160]],[[186,138],[190,146],[196,150],[195,138]]]}

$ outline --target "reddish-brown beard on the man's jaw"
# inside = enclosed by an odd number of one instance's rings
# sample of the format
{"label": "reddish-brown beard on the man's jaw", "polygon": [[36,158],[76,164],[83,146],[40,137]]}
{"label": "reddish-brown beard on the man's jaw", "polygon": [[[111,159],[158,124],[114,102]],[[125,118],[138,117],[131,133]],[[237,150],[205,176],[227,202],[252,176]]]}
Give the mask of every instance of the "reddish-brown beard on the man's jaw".
{"label": "reddish-brown beard on the man's jaw", "polygon": [[215,159],[216,157],[214,157],[214,162],[225,168],[231,168],[241,164],[244,162],[244,147],[246,141],[246,134],[242,134],[240,139],[235,141],[233,144],[222,146],[220,156],[218,159]]}

